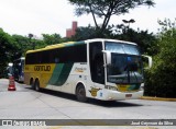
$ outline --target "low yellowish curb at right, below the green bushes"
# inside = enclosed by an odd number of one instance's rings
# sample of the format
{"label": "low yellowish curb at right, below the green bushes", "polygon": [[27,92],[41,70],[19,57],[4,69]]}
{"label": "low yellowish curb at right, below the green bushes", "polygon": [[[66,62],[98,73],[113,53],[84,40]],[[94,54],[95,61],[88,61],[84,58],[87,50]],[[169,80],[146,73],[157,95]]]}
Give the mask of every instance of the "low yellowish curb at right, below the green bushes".
{"label": "low yellowish curb at right, below the green bushes", "polygon": [[142,96],[141,99],[148,101],[165,101],[165,102],[176,102],[176,98],[164,98],[164,97],[151,97],[151,96]]}

